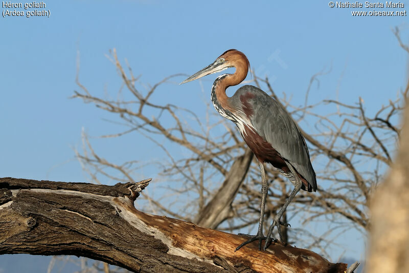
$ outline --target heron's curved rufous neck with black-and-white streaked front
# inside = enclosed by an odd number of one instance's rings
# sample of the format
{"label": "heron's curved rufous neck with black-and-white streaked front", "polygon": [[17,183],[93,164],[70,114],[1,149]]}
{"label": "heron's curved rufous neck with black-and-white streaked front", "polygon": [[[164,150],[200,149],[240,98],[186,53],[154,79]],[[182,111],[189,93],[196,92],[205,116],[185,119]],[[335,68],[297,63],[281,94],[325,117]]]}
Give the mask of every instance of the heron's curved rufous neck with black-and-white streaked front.
{"label": "heron's curved rufous neck with black-and-white streaked front", "polygon": [[236,72],[234,74],[223,74],[216,78],[212,87],[212,102],[214,108],[225,118],[231,119],[231,112],[234,111],[233,106],[226,95],[226,89],[230,86],[236,86],[242,82],[247,76],[248,65],[243,62],[238,62],[234,65]]}

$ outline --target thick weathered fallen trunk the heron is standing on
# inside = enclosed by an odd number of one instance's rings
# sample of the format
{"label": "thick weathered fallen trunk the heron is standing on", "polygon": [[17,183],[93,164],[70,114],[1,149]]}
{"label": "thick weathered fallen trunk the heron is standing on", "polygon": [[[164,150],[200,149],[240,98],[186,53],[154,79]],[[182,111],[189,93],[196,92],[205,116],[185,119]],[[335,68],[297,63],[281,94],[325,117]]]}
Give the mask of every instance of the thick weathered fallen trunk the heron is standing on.
{"label": "thick weathered fallen trunk the heron is standing on", "polygon": [[149,180],[114,186],[0,178],[0,254],[84,256],[135,272],[345,272],[307,249],[135,209]]}

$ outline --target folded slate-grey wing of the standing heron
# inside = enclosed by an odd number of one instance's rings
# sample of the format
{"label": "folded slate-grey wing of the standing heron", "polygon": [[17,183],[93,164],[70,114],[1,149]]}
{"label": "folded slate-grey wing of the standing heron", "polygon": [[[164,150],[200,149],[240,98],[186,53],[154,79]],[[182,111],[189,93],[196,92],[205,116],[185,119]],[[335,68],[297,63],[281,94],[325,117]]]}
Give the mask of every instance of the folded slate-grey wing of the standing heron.
{"label": "folded slate-grey wing of the standing heron", "polygon": [[257,133],[269,142],[280,155],[308,181],[316,190],[315,172],[312,168],[307,144],[297,127],[296,122],[261,89],[254,86],[243,86],[237,93],[251,92],[254,96],[248,100],[253,109],[249,117]]}

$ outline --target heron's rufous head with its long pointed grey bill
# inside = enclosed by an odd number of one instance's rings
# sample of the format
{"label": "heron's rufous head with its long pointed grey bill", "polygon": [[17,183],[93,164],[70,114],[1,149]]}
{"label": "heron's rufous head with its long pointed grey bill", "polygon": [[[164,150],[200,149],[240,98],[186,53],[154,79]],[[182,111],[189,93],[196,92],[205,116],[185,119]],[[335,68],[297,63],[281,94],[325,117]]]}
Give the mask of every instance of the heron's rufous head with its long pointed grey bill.
{"label": "heron's rufous head with its long pointed grey bill", "polygon": [[[180,82],[180,85],[198,78],[201,78],[203,76],[207,76],[209,74],[217,73],[220,71],[223,71],[225,69],[228,69],[230,67],[238,67],[239,65],[243,65],[246,67],[246,69],[249,68],[249,62],[247,57],[240,51],[236,49],[230,49],[228,51],[225,51],[223,54],[218,56],[212,64],[209,66],[203,68],[199,72],[196,72],[189,78],[185,79],[184,81]],[[247,71],[246,71],[247,74]]]}

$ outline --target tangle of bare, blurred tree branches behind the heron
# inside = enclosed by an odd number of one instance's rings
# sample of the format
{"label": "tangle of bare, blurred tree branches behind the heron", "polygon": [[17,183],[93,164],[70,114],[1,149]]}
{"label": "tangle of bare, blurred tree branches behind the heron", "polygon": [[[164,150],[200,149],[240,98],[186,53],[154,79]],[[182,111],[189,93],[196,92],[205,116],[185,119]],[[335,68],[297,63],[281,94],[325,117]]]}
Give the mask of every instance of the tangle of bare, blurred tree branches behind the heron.
{"label": "tangle of bare, blurred tree branches behind the heron", "polygon": [[[399,29],[395,34],[407,51]],[[111,113],[111,121],[120,125],[118,133],[102,138],[142,134],[167,156],[167,160],[148,160],[157,166],[158,177],[153,181],[163,188],[163,195],[143,194],[146,209],[229,232],[255,228],[260,213],[261,179],[257,164],[252,163],[253,154],[233,123],[219,117],[209,103],[203,104],[208,110],[206,115],[199,116],[187,109],[186,104],[160,103],[154,99],[159,89],[175,89],[175,78],[181,74],[146,87],[140,76],[134,76],[126,60],[125,66],[120,62],[115,49],[108,57],[122,79],[117,98],[90,92],[78,74],[79,90],[73,97]],[[324,74],[311,77],[303,106],[293,105],[285,95],[279,97],[267,77],[253,75],[252,80],[280,101],[298,122],[319,181],[316,193],[300,192],[288,207],[282,220],[291,223],[292,219],[300,219],[303,227],[285,228],[284,238],[306,248],[316,247],[322,254],[326,254],[334,237],[348,229],[357,229],[363,235],[368,233],[369,199],[392,165],[401,130],[399,116],[408,92],[407,88],[396,92],[395,98],[375,114],[366,112],[365,98],[360,97],[353,104],[338,100],[309,104],[309,90]],[[397,85],[391,88],[396,89]],[[141,178],[138,170],[147,164],[146,156],[114,163],[95,151],[91,142],[84,133],[83,150],[76,150],[90,180],[98,182],[104,177],[135,182]],[[176,148],[183,153],[172,152]],[[270,185],[264,223],[268,225],[292,188],[273,167],[268,166],[266,173]],[[325,234],[311,232],[309,227],[314,221],[331,223],[330,229]]]}

